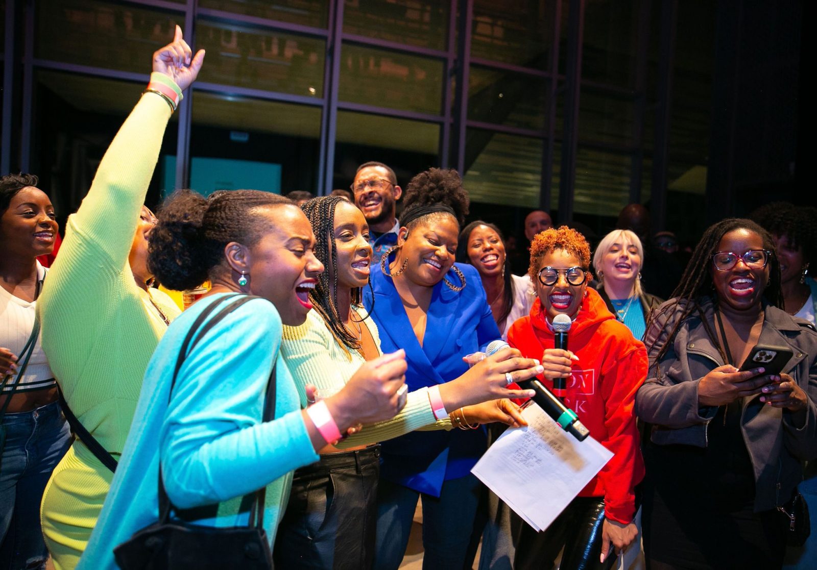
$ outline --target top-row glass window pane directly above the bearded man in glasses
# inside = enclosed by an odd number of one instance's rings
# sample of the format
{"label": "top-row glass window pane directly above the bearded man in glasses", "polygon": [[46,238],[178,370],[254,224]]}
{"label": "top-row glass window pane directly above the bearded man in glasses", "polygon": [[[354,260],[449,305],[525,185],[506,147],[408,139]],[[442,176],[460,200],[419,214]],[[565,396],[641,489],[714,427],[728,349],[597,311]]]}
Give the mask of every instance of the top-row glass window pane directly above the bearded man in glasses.
{"label": "top-row glass window pane directly above the bearded man in glasses", "polygon": [[450,2],[440,0],[346,0],[343,31],[445,50],[450,6]]}

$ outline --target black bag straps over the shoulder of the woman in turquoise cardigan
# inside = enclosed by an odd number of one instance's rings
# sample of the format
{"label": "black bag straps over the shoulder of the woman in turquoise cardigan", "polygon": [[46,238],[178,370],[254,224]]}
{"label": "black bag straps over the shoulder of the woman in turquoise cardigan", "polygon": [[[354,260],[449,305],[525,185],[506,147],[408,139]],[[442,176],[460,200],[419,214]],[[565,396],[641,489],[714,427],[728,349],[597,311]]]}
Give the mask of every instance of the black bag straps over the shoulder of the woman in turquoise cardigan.
{"label": "black bag straps over the shoulder of the woman in turquoise cardigan", "polygon": [[[239,297],[238,299],[234,299],[235,297]],[[204,309],[199,317],[196,318],[193,325],[190,327],[190,331],[185,336],[185,340],[181,344],[181,350],[179,350],[179,356],[176,358],[176,367],[173,370],[173,376],[170,385],[170,391],[167,396],[168,403],[172,399],[172,392],[173,388],[176,385],[176,376],[178,376],[179,371],[181,370],[181,365],[184,363],[185,358],[190,354],[198,344],[198,342],[212,329],[215,327],[217,323],[220,323],[223,318],[225,318],[228,314],[230,314],[234,309],[237,309],[240,305],[248,301],[252,301],[252,299],[258,298],[257,296],[251,295],[230,295],[225,296],[224,299],[212,303],[212,305],[208,306],[207,309]],[[212,314],[214,309],[217,308],[217,305],[221,305],[223,301],[228,299],[234,299],[229,305],[226,305],[223,309],[219,311],[216,316],[211,318],[206,324],[202,326],[204,320]],[[267,381],[267,389],[266,389],[266,396],[264,402],[264,413],[262,416],[262,421],[270,421],[275,417],[275,362],[272,366],[272,372],[270,372],[270,379]],[[271,405],[270,405],[271,403]],[[254,500],[252,501],[252,506],[250,508],[250,517],[248,526],[249,527],[257,527],[259,529],[263,528],[264,522],[264,504],[266,501],[266,486],[256,491],[254,494]],[[158,473],[158,520],[159,523],[167,523],[168,519],[170,519],[170,512],[175,510],[175,507],[170,501],[170,497],[167,497],[167,491],[164,488],[164,482],[162,479],[162,465],[161,461],[159,462],[159,473]]]}

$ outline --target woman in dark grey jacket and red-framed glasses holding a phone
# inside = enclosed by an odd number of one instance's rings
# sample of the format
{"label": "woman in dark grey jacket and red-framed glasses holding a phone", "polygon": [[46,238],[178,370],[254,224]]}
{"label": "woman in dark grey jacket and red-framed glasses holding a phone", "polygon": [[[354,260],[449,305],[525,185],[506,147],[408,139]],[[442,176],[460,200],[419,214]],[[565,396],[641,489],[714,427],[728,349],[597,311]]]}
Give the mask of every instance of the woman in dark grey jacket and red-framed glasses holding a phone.
{"label": "woman in dark grey jacket and red-framed glasses holding a phone", "polygon": [[[647,323],[648,568],[780,568],[801,460],[817,456],[817,333],[783,307],[775,244],[750,220],[703,234]],[[792,351],[784,373],[739,372],[755,345]]]}

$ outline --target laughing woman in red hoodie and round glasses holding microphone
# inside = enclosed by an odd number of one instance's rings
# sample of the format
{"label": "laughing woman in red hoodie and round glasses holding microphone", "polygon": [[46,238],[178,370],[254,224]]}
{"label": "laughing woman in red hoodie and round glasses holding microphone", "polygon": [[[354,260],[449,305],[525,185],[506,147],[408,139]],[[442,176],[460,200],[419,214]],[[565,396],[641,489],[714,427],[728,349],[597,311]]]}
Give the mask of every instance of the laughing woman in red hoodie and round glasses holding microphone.
{"label": "laughing woman in red hoodie and round glasses holding microphone", "polygon": [[[551,568],[562,548],[561,568],[609,568],[614,552],[636,538],[634,488],[644,476],[633,403],[647,374],[644,345],[619,323],[592,278],[590,247],[582,234],[562,226],[537,234],[529,276],[538,296],[530,314],[508,332],[508,344],[540,358],[543,384],[567,377],[565,405],[614,456],[544,532],[511,519],[516,529],[513,568]],[[573,321],[570,350],[554,348],[553,318]],[[514,515],[516,517],[516,515]]]}

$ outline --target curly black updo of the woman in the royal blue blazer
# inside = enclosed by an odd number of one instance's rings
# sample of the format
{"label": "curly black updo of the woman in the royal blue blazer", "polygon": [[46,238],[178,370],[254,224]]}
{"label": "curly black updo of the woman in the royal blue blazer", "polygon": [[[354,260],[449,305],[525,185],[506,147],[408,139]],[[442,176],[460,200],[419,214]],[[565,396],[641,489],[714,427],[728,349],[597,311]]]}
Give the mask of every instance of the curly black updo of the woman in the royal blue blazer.
{"label": "curly black updo of the woman in the royal blue blazer", "polygon": [[[453,168],[429,168],[414,176],[406,187],[403,198],[403,212],[412,207],[444,204],[454,212],[454,217],[460,227],[465,223],[468,215],[468,206],[471,200],[468,192],[462,187],[462,177]],[[413,220],[412,227],[420,220],[431,216],[444,216],[446,212],[435,212]],[[411,228],[408,228],[411,229]]]}

